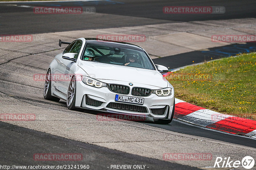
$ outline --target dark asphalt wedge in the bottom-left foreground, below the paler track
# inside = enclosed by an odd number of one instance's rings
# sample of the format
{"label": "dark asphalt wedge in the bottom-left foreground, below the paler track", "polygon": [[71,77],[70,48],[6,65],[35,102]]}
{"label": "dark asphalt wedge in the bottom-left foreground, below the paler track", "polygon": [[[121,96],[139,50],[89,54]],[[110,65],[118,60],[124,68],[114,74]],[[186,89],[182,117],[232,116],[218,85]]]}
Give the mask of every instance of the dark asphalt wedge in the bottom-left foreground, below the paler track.
{"label": "dark asphalt wedge in the bottom-left foreground, below the paler track", "polygon": [[[4,141],[1,141],[1,147],[3,149],[1,149],[2,154],[0,159],[3,161],[2,163],[7,165],[32,165],[30,158],[33,158],[34,153],[43,153],[48,150],[52,153],[83,153],[84,159],[82,162],[79,162],[79,164],[90,165],[91,169],[104,169],[106,166],[110,167],[111,164],[113,165],[117,162],[121,165],[147,165],[150,169],[197,169],[61,138],[3,122],[0,122],[0,127],[1,138],[4,139]],[[16,147],[19,148],[18,152],[14,149]],[[40,149],[38,149],[38,147]],[[10,151],[12,152],[10,153]],[[9,154],[5,156],[5,153]],[[62,165],[63,161],[54,161],[53,163],[44,161],[41,165],[56,164]],[[69,165],[76,164],[76,161],[69,163]]]}

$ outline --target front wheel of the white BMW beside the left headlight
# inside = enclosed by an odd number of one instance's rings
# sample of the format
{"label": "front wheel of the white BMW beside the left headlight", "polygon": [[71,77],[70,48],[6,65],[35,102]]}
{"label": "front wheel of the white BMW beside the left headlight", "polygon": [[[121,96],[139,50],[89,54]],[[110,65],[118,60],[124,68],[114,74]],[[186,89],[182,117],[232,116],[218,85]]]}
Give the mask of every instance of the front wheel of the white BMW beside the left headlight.
{"label": "front wheel of the white BMW beside the left headlight", "polygon": [[76,110],[76,77],[73,77],[68,86],[67,108]]}

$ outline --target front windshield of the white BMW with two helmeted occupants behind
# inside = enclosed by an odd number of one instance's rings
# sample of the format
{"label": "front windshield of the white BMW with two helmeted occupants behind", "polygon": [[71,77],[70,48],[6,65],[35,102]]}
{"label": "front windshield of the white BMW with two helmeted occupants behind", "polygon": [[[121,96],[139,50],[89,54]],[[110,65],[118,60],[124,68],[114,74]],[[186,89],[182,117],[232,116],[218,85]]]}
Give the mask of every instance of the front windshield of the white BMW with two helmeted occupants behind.
{"label": "front windshield of the white BMW with two helmeted occupants behind", "polygon": [[118,45],[87,44],[81,59],[125,67],[153,70],[154,67],[143,50],[129,49]]}

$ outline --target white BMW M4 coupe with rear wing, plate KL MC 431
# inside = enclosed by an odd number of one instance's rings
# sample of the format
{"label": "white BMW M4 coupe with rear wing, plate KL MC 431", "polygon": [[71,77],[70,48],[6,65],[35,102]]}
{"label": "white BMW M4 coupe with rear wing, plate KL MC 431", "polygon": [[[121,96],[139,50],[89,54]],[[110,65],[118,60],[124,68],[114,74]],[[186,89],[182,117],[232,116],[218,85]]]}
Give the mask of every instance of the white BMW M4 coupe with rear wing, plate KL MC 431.
{"label": "white BMW M4 coupe with rear wing, plate KL MC 431", "polygon": [[84,108],[146,117],[169,124],[174,89],[163,77],[168,69],[154,64],[140,46],[79,38],[55,56],[46,74],[44,99],[67,101],[70,110]]}

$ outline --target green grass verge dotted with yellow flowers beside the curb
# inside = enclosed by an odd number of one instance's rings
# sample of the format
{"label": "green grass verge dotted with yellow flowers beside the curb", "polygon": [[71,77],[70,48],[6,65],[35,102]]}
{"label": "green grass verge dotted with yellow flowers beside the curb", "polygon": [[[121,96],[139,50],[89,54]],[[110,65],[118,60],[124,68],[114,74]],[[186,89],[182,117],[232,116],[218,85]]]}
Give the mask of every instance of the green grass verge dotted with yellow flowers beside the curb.
{"label": "green grass verge dotted with yellow flowers beside the curb", "polygon": [[256,53],[189,66],[165,78],[178,99],[256,120]]}

